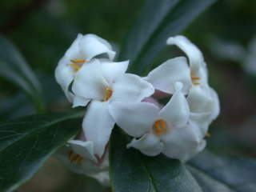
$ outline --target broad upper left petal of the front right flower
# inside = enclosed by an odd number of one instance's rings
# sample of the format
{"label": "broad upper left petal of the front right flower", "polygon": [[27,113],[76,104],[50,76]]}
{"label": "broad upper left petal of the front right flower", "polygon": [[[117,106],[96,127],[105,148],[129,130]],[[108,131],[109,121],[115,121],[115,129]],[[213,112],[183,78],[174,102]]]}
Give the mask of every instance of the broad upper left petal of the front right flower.
{"label": "broad upper left petal of the front right flower", "polygon": [[141,137],[158,118],[158,108],[147,102],[111,102],[110,114],[127,134]]}

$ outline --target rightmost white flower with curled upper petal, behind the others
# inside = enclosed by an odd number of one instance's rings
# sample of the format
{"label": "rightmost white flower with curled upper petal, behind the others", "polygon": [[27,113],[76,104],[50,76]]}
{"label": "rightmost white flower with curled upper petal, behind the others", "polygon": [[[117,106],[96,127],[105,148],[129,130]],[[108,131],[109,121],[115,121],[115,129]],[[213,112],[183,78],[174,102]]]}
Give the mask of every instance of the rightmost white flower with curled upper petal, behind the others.
{"label": "rightmost white flower with curled upper petal, behind the others", "polygon": [[188,94],[190,121],[198,124],[206,134],[208,126],[219,114],[218,95],[208,85],[206,62],[198,47],[183,36],[168,38],[167,44],[183,50],[189,64],[184,57],[170,59],[152,70],[145,79],[155,89],[167,94],[174,93],[175,82],[182,82],[182,93]]}

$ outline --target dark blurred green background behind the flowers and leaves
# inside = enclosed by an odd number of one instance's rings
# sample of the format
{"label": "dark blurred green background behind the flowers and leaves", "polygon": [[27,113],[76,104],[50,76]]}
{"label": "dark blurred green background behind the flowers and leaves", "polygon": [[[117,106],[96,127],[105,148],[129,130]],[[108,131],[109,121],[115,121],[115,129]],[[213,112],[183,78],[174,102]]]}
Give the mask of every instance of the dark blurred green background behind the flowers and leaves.
{"label": "dark blurred green background behind the flowers and leaves", "polygon": [[[26,58],[42,83],[47,110],[70,110],[54,80],[54,68],[78,33],[98,34],[118,50],[143,1],[15,0],[0,2],[0,33]],[[218,1],[185,34],[203,52],[210,85],[221,100],[221,114],[211,125],[208,147],[256,157],[256,1]],[[157,14],[157,13],[156,13]],[[1,50],[0,50],[1,51]],[[176,56],[166,47],[154,61]],[[1,69],[0,69],[1,70]],[[0,120],[33,114],[22,91],[0,78]],[[110,191],[71,174],[54,158],[18,191]]]}

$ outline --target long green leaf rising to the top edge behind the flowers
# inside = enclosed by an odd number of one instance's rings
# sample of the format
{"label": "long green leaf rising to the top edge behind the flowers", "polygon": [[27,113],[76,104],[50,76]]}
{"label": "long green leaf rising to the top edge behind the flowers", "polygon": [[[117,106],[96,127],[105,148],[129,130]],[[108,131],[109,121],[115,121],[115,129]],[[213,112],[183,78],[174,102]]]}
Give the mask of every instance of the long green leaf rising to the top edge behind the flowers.
{"label": "long green leaf rising to the top edge behind the flowers", "polygon": [[130,60],[130,71],[142,74],[166,46],[215,0],[146,0],[122,47],[119,60]]}

